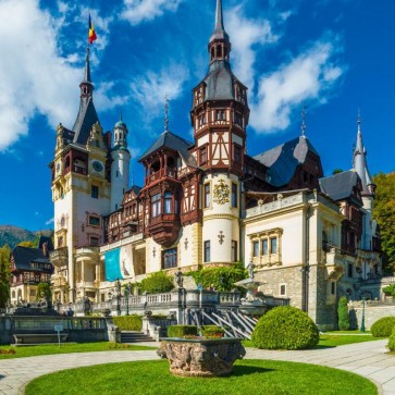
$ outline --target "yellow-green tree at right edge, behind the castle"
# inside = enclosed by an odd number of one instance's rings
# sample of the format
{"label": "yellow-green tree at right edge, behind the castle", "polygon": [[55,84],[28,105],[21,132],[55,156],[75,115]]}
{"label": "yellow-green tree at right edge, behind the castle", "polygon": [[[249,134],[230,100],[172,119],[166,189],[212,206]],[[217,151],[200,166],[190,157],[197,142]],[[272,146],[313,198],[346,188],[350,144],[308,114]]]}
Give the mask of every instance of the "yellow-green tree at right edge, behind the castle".
{"label": "yellow-green tree at right edge, behind the castle", "polygon": [[378,221],[383,251],[383,269],[395,271],[395,172],[379,173],[373,177],[377,185],[373,218]]}

